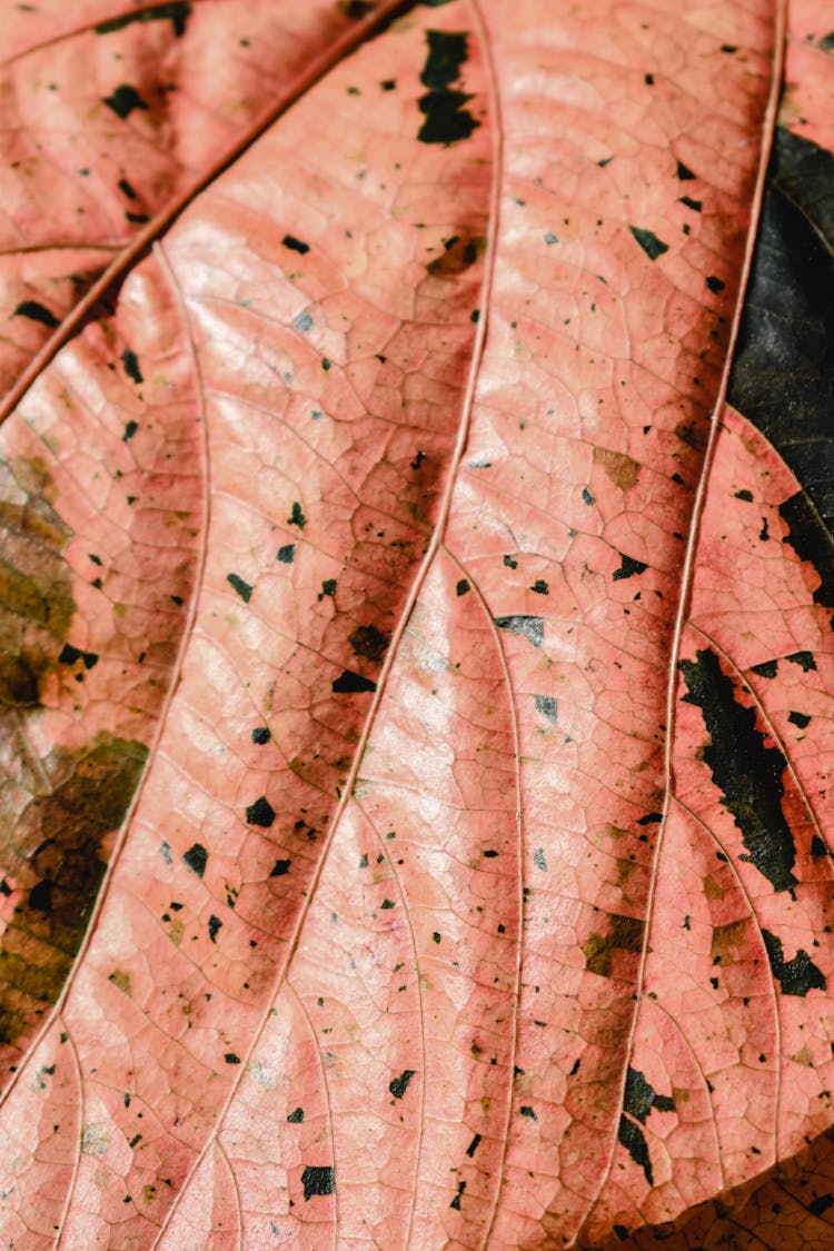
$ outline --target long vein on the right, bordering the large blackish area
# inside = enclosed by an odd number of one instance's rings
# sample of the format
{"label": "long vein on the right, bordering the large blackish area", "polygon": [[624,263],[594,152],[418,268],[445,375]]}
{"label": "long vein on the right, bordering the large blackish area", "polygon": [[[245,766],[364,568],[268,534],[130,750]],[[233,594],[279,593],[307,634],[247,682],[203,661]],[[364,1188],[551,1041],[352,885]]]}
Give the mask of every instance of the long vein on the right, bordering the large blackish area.
{"label": "long vein on the right, bordering the large blackish area", "polygon": [[[748,226],[748,236],[744,248],[744,259],[741,261],[741,275],[739,279],[739,290],[735,299],[735,311],[733,314],[733,325],[730,328],[730,338],[726,345],[726,355],[724,359],[721,382],[718,389],[718,395],[715,397],[715,405],[711,413],[709,439],[706,443],[706,450],[704,453],[704,463],[701,465],[700,477],[698,479],[698,488],[695,490],[693,513],[689,523],[689,534],[686,538],[686,553],[684,555],[684,563],[680,572],[680,594],[678,597],[678,609],[675,613],[675,624],[671,636],[671,646],[669,653],[669,676],[666,682],[666,741],[664,747],[665,793],[663,798],[663,821],[660,823],[660,829],[658,832],[658,841],[655,844],[654,857],[651,862],[651,874],[649,878],[646,916],[643,929],[643,950],[640,952],[640,967],[638,970],[635,995],[634,995],[634,1012],[631,1013],[631,1027],[629,1030],[629,1036],[625,1045],[625,1063],[623,1065],[620,1096],[616,1103],[616,1107],[619,1108],[621,1108],[625,1102],[625,1078],[628,1075],[629,1065],[631,1062],[631,1056],[634,1053],[634,1041],[636,1036],[638,1020],[640,1016],[640,998],[643,996],[643,987],[645,982],[645,966],[649,953],[649,936],[651,933],[651,923],[654,919],[658,867],[660,863],[660,853],[663,849],[663,841],[664,841],[663,834],[666,826],[666,821],[669,818],[669,808],[671,806],[671,798],[675,791],[674,746],[675,746],[678,659],[680,657],[683,633],[686,626],[686,618],[689,613],[689,600],[691,594],[693,578],[695,573],[695,554],[698,550],[698,540],[700,538],[700,523],[704,513],[704,503],[706,500],[709,477],[713,468],[713,460],[715,458],[715,445],[718,442],[718,435],[721,429],[721,412],[726,399],[726,388],[730,378],[730,369],[733,365],[735,344],[739,337],[739,327],[741,324],[741,314],[744,311],[744,296],[750,278],[750,269],[753,265],[753,253],[755,249],[755,241],[759,226],[759,216],[761,214],[761,201],[764,199],[765,179],[768,175],[768,161],[770,159],[773,133],[775,129],[776,111],[779,109],[779,96],[781,93],[781,78],[783,78],[783,66],[785,56],[786,29],[788,29],[786,9],[788,9],[788,0],[776,0],[776,13],[774,18],[773,78],[770,81],[770,94],[768,98],[768,105],[761,123],[761,151],[759,156],[759,169],[756,173],[755,189],[753,193],[753,204],[750,208],[750,224]],[[605,1188],[608,1178],[611,1173],[611,1168],[614,1166],[614,1155],[616,1152],[616,1143],[618,1143],[616,1133],[613,1133],[611,1146],[608,1155],[608,1162],[600,1176],[599,1186],[596,1187],[596,1191],[585,1211],[585,1215],[579,1221],[576,1232],[571,1238],[571,1241],[568,1243],[565,1251],[570,1251],[570,1248],[578,1246],[583,1231],[588,1225],[588,1221],[590,1220],[590,1216],[594,1208],[596,1207],[596,1203],[599,1202],[600,1195]]]}

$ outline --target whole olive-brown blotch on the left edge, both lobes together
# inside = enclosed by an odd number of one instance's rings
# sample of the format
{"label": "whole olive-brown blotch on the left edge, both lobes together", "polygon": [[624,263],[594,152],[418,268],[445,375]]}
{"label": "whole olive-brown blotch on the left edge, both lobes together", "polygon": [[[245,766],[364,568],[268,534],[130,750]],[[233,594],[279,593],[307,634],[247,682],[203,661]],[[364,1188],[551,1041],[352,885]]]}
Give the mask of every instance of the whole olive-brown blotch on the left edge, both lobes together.
{"label": "whole olive-brown blotch on the left edge, both lobes together", "polygon": [[6,1045],[24,1045],[61,993],[106,869],[109,837],[148,757],[143,743],[110,733],[73,751],[54,746],[43,758],[29,749],[56,682],[70,681],[60,657],[75,615],[66,560],[73,530],[56,499],[40,458],[0,463],[0,736],[23,764],[19,778],[0,778],[0,902],[6,914],[13,909],[0,940]]}

